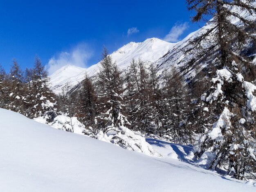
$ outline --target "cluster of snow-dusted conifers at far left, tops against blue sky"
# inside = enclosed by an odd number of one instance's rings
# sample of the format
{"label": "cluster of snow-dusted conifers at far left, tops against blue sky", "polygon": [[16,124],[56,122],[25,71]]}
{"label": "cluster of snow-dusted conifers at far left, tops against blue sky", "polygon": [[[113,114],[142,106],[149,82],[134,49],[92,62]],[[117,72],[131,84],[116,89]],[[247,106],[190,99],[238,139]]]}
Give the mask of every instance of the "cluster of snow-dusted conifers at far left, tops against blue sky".
{"label": "cluster of snow-dusted conifers at far left, tops against blue sky", "polygon": [[56,96],[49,88],[48,72],[38,57],[34,68],[22,71],[13,59],[10,72],[0,65],[0,107],[29,118],[44,116],[53,121],[56,116]]}

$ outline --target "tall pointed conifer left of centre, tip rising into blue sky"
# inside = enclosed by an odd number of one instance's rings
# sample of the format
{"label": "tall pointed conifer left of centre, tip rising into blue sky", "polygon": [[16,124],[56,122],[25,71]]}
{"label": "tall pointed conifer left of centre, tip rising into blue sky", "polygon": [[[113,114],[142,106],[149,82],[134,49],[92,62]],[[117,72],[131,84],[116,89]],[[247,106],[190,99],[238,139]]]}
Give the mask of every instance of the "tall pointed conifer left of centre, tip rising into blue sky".
{"label": "tall pointed conifer left of centre, tip rising into blue sky", "polygon": [[123,78],[116,63],[112,61],[106,48],[102,53],[101,68],[97,74],[97,91],[99,97],[98,129],[106,133],[119,129],[128,123],[124,115],[122,96],[124,92]]}

